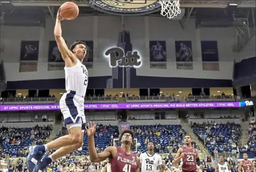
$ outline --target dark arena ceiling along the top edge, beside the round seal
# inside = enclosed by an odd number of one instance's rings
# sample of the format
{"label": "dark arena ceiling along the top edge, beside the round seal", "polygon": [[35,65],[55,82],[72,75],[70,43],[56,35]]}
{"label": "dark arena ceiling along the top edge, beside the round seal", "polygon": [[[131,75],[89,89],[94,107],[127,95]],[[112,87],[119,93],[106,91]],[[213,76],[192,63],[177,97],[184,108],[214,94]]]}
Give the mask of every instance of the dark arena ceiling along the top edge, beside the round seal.
{"label": "dark arena ceiling along the top edge, beside the round seal", "polygon": [[[166,0],[167,1],[167,0]],[[4,1],[2,0],[1,5],[1,18],[4,19],[5,25],[9,22],[10,25],[15,25],[16,21],[20,24],[21,20],[40,18],[41,23],[45,17],[55,18],[58,8],[65,1],[63,0],[51,0],[51,1]],[[106,13],[99,12],[89,7],[84,1],[74,1],[80,9],[80,15],[109,15]],[[222,19],[227,18],[226,8],[229,3],[236,3],[238,7],[237,14],[240,17],[245,18],[251,12],[255,13],[255,0],[243,0],[243,1],[180,1],[181,8],[186,8],[185,17],[190,18],[215,18]],[[254,10],[252,10],[254,9]],[[4,15],[3,15],[4,14]],[[149,14],[153,16],[160,16],[160,12]],[[15,21],[16,20],[16,21]],[[18,24],[17,23],[17,24]],[[24,22],[23,22],[24,23]],[[3,24],[3,22],[2,22]],[[18,24],[18,25],[19,25]]]}

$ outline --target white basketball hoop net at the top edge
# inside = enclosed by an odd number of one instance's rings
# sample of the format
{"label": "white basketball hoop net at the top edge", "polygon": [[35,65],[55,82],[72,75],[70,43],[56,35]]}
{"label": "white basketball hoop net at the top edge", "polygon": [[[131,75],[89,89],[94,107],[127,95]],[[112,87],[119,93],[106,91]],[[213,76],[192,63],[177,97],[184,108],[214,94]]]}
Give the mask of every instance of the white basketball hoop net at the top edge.
{"label": "white basketball hoop net at the top edge", "polygon": [[168,19],[172,19],[181,13],[180,1],[166,1],[159,0],[162,6],[161,15],[166,16]]}

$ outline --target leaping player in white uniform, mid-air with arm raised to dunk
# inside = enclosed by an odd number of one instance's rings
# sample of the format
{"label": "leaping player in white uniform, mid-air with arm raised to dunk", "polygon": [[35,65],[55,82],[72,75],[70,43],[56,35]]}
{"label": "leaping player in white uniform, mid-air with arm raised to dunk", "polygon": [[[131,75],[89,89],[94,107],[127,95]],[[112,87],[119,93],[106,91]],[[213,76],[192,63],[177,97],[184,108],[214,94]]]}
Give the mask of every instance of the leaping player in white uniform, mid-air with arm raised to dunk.
{"label": "leaping player in white uniform, mid-air with arm raised to dunk", "polygon": [[[46,145],[29,148],[26,164],[29,171],[33,172],[42,171],[55,159],[77,150],[82,146],[84,139],[84,96],[88,83],[88,71],[85,65],[82,64],[82,61],[86,55],[86,45],[83,42],[74,42],[69,49],[62,37],[61,20],[63,19],[58,12],[54,36],[62,58],[65,61],[64,70],[67,91],[63,94],[59,104],[69,135],[59,137],[59,139]],[[57,151],[51,154],[51,156],[47,154],[43,156],[44,153],[50,150]]]}

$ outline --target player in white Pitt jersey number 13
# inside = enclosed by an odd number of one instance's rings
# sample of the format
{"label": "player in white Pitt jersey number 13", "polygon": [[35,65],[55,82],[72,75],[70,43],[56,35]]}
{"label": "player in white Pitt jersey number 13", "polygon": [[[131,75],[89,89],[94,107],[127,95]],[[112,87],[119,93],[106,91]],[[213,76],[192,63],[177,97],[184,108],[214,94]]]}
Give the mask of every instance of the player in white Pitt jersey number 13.
{"label": "player in white Pitt jersey number 13", "polygon": [[148,151],[140,155],[140,160],[142,172],[157,172],[157,167],[160,172],[165,169],[162,158],[154,152],[154,143],[151,141],[148,142]]}

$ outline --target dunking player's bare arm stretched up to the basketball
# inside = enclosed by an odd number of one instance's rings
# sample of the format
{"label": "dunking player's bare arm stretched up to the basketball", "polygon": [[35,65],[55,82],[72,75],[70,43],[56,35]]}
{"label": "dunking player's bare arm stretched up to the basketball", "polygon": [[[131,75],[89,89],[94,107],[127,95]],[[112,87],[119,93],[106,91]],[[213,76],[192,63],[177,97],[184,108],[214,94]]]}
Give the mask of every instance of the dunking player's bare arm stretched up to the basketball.
{"label": "dunking player's bare arm stretched up to the basketball", "polygon": [[[59,8],[60,9],[60,8]],[[60,51],[60,53],[62,54],[62,59],[65,61],[67,58],[71,58],[72,53],[69,50],[68,46],[65,43],[65,40],[62,37],[62,27],[60,25],[60,21],[62,21],[63,18],[62,16],[60,16],[59,11],[57,14],[57,19],[56,19],[56,23],[55,23],[55,27],[54,27],[54,37],[55,37],[55,41],[58,45],[58,49]]]}

